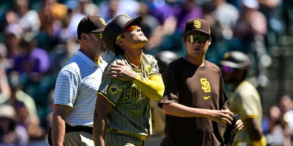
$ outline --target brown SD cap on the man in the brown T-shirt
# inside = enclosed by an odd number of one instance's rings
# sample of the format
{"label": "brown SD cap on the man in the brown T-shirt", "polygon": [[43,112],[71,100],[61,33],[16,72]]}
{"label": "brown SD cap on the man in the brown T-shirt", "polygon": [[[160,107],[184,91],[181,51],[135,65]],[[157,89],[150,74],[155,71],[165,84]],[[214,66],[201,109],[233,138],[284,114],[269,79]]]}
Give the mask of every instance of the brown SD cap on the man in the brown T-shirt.
{"label": "brown SD cap on the man in the brown T-shirt", "polygon": [[208,21],[200,18],[189,19],[185,26],[184,35],[192,32],[192,31],[201,31],[208,36],[211,36],[211,28],[208,24]]}

